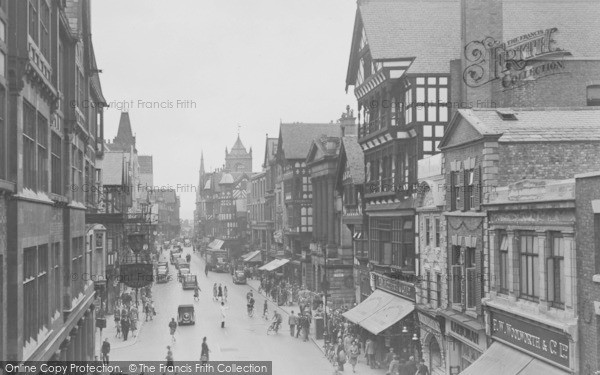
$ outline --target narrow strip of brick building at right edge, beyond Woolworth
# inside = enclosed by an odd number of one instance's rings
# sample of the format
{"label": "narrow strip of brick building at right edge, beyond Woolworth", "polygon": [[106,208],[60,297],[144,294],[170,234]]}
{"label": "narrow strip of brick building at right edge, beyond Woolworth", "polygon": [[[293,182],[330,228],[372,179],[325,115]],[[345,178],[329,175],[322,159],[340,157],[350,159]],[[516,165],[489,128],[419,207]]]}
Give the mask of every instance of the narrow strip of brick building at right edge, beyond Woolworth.
{"label": "narrow strip of brick building at right edge, beyond Woolworth", "polygon": [[600,173],[575,175],[579,371],[600,370]]}

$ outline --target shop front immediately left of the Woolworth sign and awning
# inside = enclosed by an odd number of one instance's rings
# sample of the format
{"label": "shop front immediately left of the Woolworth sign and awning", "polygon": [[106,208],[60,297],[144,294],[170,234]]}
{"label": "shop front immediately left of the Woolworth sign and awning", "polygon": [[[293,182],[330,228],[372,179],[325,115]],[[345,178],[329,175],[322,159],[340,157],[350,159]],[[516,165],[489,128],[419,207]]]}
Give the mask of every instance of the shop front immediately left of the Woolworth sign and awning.
{"label": "shop front immediately left of the Woolworth sign and awning", "polygon": [[446,320],[446,373],[463,374],[487,348],[485,326],[454,310],[441,314]]}

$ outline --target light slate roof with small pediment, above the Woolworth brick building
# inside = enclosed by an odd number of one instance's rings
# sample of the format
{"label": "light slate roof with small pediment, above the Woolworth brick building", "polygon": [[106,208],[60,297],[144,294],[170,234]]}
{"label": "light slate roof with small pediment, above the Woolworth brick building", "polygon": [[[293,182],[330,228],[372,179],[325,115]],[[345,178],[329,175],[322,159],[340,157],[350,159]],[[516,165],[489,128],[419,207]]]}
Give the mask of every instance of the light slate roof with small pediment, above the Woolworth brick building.
{"label": "light slate roof with small pediment, above the Woolworth brick building", "polygon": [[[512,119],[503,119],[502,114]],[[448,145],[461,121],[479,138],[498,136],[498,142],[600,141],[600,107],[481,108],[459,109],[440,148]]]}

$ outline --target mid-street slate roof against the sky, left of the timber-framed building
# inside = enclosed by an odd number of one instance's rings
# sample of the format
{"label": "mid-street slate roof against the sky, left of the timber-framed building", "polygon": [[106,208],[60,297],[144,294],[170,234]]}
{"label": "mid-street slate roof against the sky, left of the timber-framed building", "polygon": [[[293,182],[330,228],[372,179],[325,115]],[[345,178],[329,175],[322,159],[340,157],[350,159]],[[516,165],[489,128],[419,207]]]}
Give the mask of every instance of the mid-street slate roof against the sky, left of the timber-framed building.
{"label": "mid-street slate roof against the sky, left of the timber-framed building", "polygon": [[279,125],[278,150],[283,150],[286,159],[306,159],[316,135],[339,136],[340,124],[291,123]]}

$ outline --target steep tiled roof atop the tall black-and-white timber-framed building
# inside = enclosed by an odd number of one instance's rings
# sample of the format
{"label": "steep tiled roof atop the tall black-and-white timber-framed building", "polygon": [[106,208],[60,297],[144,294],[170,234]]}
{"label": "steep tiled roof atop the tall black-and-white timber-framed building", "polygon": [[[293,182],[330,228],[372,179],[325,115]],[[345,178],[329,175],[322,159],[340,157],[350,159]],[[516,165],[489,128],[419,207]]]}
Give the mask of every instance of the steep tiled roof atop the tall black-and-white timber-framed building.
{"label": "steep tiled roof atop the tall black-and-white timber-framed building", "polygon": [[346,85],[354,85],[364,27],[375,61],[414,59],[411,73],[449,73],[461,56],[458,0],[359,0]]}

